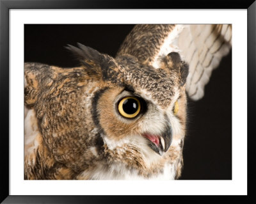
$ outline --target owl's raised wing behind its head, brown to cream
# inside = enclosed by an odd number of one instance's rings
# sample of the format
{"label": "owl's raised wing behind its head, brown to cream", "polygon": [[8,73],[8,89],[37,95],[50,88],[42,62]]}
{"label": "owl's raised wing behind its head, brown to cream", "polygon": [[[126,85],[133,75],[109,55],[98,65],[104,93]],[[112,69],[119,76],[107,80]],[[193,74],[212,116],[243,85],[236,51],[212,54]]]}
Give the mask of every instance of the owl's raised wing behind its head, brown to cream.
{"label": "owl's raised wing behind its head, brown to cream", "polygon": [[232,45],[230,24],[136,25],[118,51],[136,56],[141,63],[160,67],[161,58],[179,52],[189,65],[186,91],[190,98],[204,96],[212,70]]}

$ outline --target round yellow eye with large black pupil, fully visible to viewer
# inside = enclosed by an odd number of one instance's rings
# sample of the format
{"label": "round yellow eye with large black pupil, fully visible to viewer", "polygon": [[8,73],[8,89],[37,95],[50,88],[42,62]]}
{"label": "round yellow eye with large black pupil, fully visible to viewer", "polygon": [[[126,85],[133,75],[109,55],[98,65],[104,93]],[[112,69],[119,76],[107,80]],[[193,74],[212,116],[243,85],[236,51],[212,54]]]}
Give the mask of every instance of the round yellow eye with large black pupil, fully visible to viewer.
{"label": "round yellow eye with large black pupil, fully visible to viewer", "polygon": [[119,113],[125,118],[135,118],[140,113],[140,100],[135,97],[125,97],[118,104]]}

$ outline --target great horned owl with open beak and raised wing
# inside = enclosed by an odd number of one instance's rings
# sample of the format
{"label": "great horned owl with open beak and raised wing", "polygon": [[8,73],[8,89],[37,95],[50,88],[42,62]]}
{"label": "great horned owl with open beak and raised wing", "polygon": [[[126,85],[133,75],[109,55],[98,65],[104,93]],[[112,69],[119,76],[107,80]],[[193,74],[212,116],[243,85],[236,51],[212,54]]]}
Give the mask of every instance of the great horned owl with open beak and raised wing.
{"label": "great horned owl with open beak and raised wing", "polygon": [[137,25],[116,58],[78,44],[80,67],[25,63],[25,179],[179,178],[186,91],[230,47],[230,25]]}

